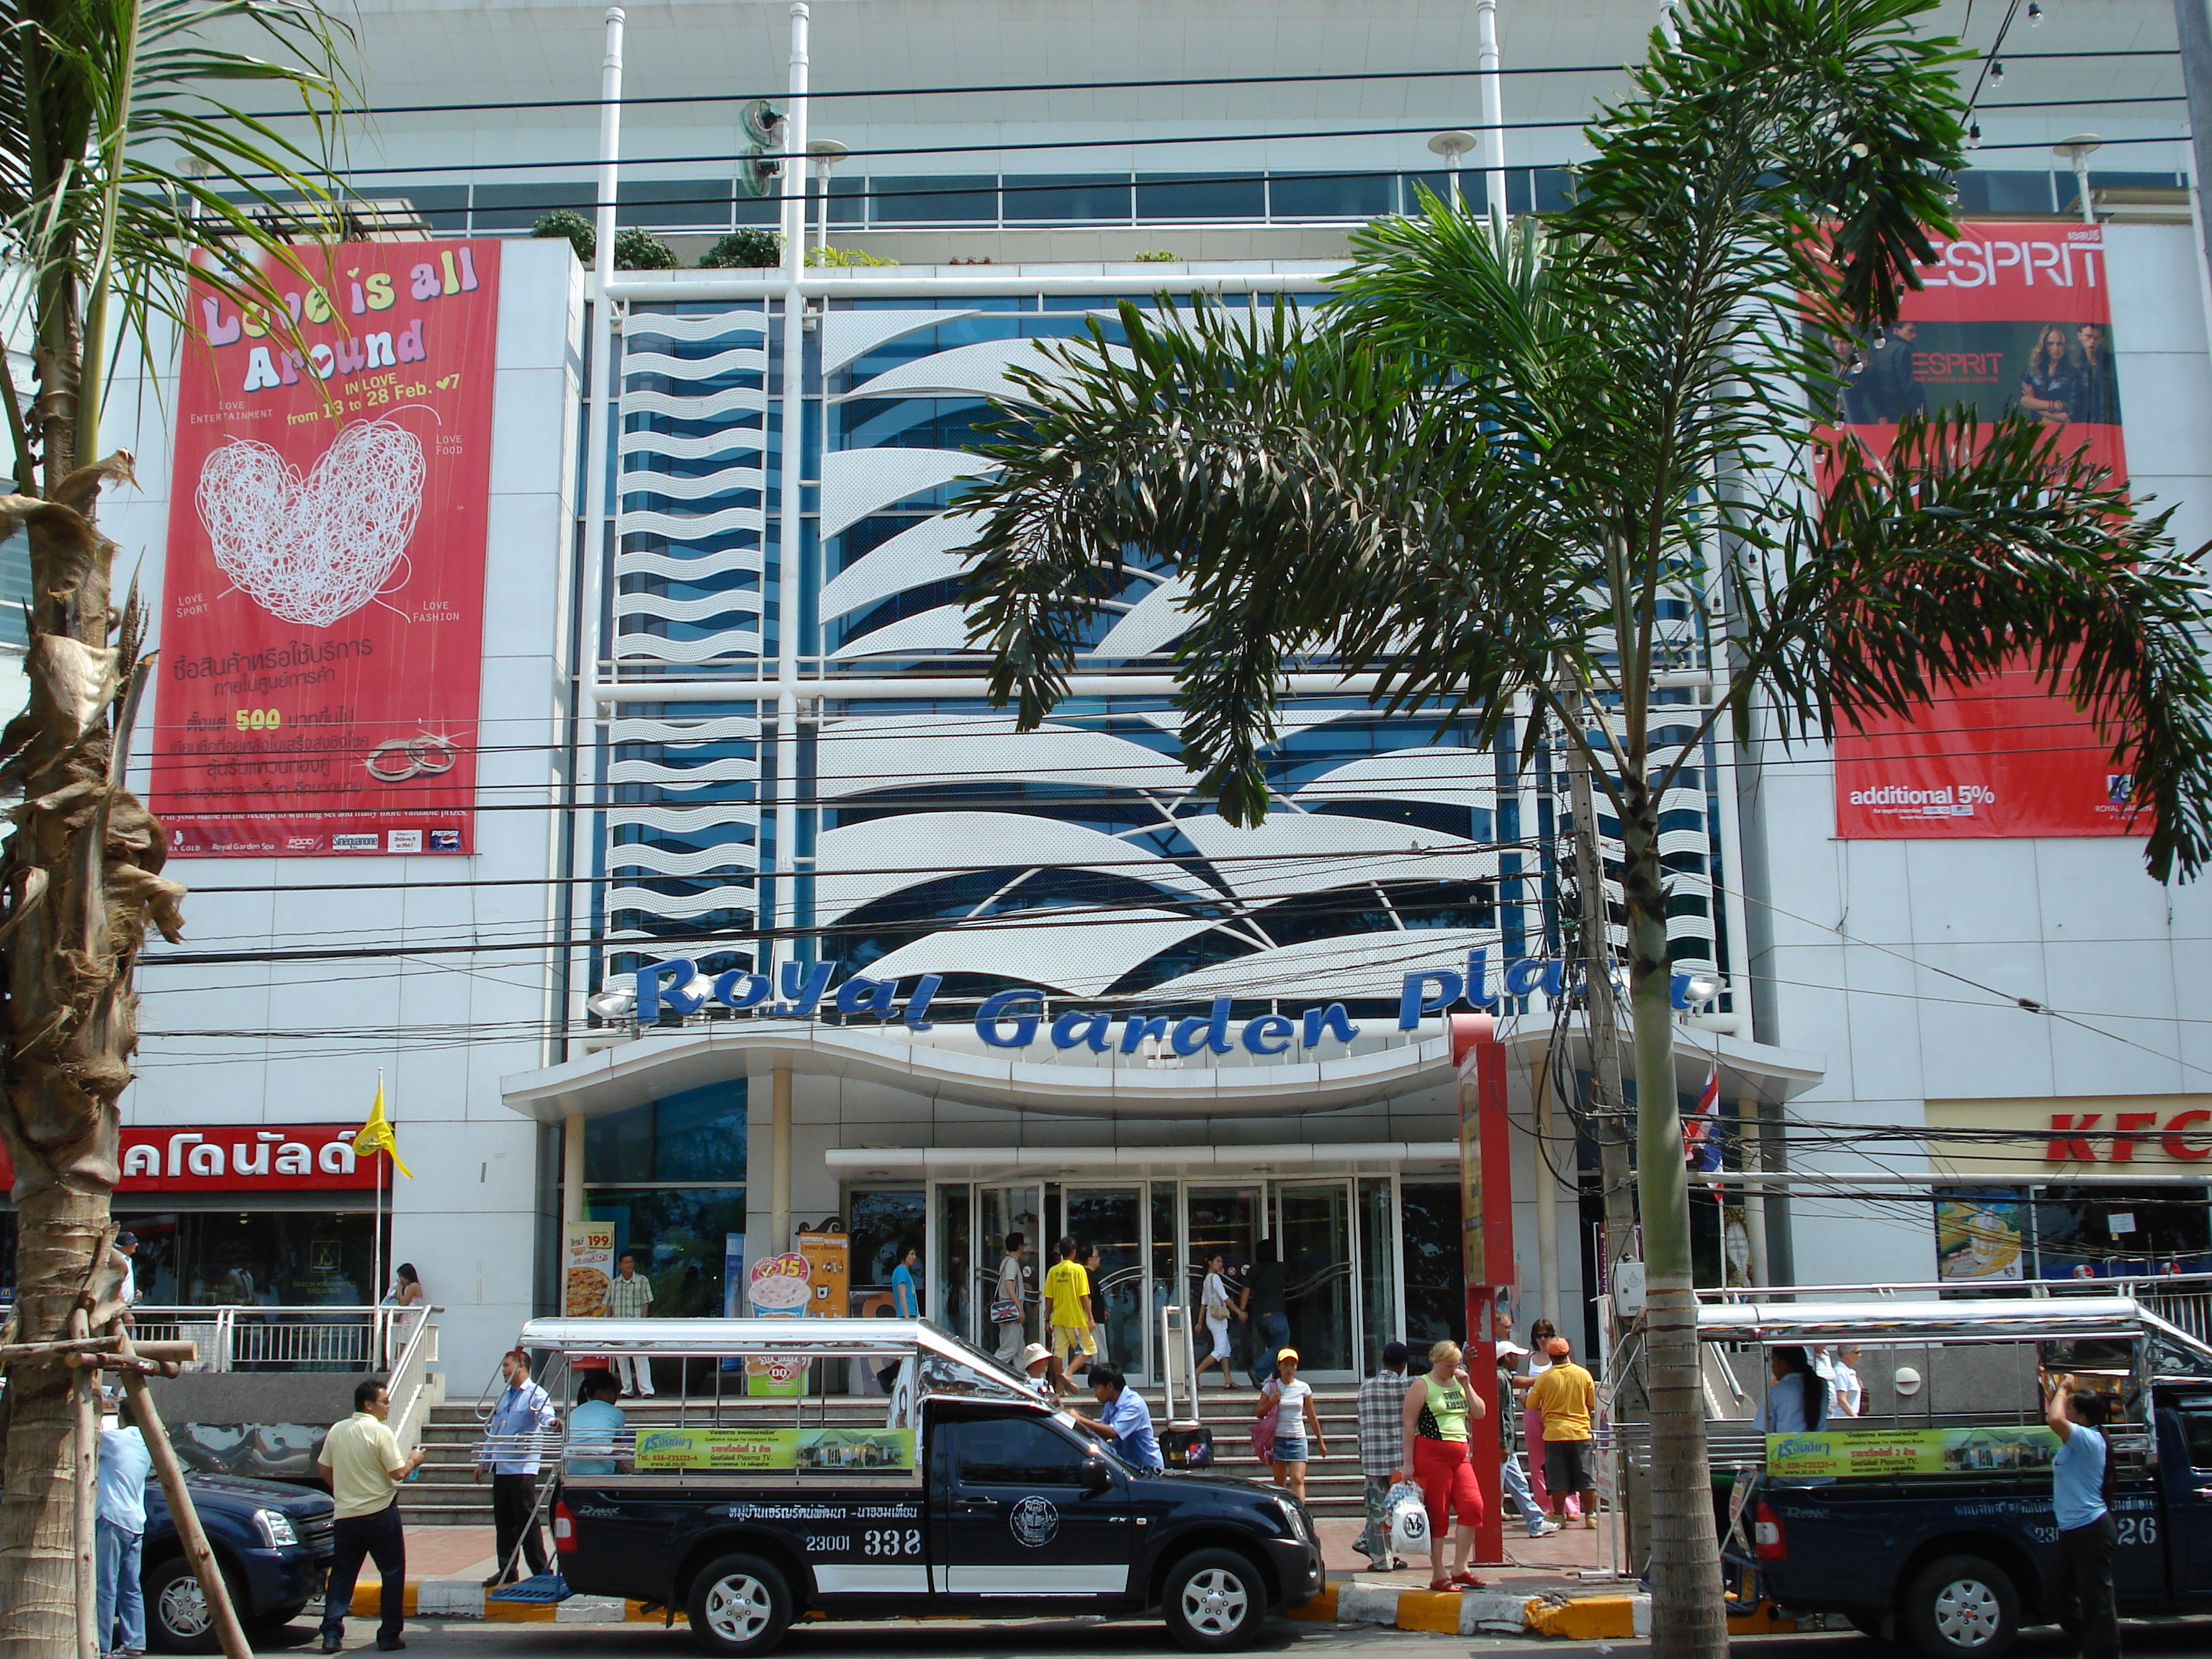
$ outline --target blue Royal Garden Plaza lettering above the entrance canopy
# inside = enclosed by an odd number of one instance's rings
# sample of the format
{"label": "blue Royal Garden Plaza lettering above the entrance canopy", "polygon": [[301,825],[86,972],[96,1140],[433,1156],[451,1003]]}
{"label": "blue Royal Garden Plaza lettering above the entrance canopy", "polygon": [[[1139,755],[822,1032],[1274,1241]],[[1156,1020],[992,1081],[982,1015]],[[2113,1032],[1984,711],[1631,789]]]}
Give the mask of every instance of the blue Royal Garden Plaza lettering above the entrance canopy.
{"label": "blue Royal Garden Plaza lettering above the entrance canopy", "polygon": [[[931,1031],[929,1006],[945,987],[942,973],[922,973],[907,989],[907,980],[874,980],[854,973],[841,984],[836,962],[783,962],[774,980],[750,969],[730,969],[717,978],[706,978],[690,958],[675,956],[666,962],[648,962],[637,969],[637,1022],[650,1026],[661,1013],[697,1013],[706,1004],[719,1004],[739,1013],[761,1011],[785,1020],[812,1020],[834,1009],[836,1013],[874,1013],[898,1020],[909,1031]],[[1568,987],[1568,967],[1557,958],[1524,956],[1500,962],[1495,982],[1489,973],[1489,951],[1469,951],[1467,971],[1422,969],[1407,973],[1398,991],[1398,1031],[1416,1031],[1422,1015],[1444,1013],[1467,1002],[1475,1009],[1495,1009],[1509,998],[1546,995],[1557,998]],[[781,991],[781,998],[774,993]],[[1237,1048],[1254,1055],[1279,1055],[1296,1037],[1303,1048],[1318,1048],[1323,1042],[1352,1042],[1360,1035],[1343,1002],[1327,1002],[1303,1013],[1256,1013],[1248,1020],[1232,1020],[1232,998],[1214,998],[1206,1013],[1133,1013],[1115,1015],[1104,1009],[1068,1009],[1046,1022],[1044,1002],[1051,993],[1035,984],[1020,984],[995,991],[975,1006],[975,1035],[993,1048],[1029,1048],[1048,1040],[1055,1048],[1091,1048],[1106,1053],[1119,1048],[1133,1055],[1146,1042],[1166,1044],[1177,1055],[1228,1055]],[[1690,975],[1674,975],[1674,1006],[1690,1006]],[[1237,1026],[1234,1031],[1230,1026]]]}

